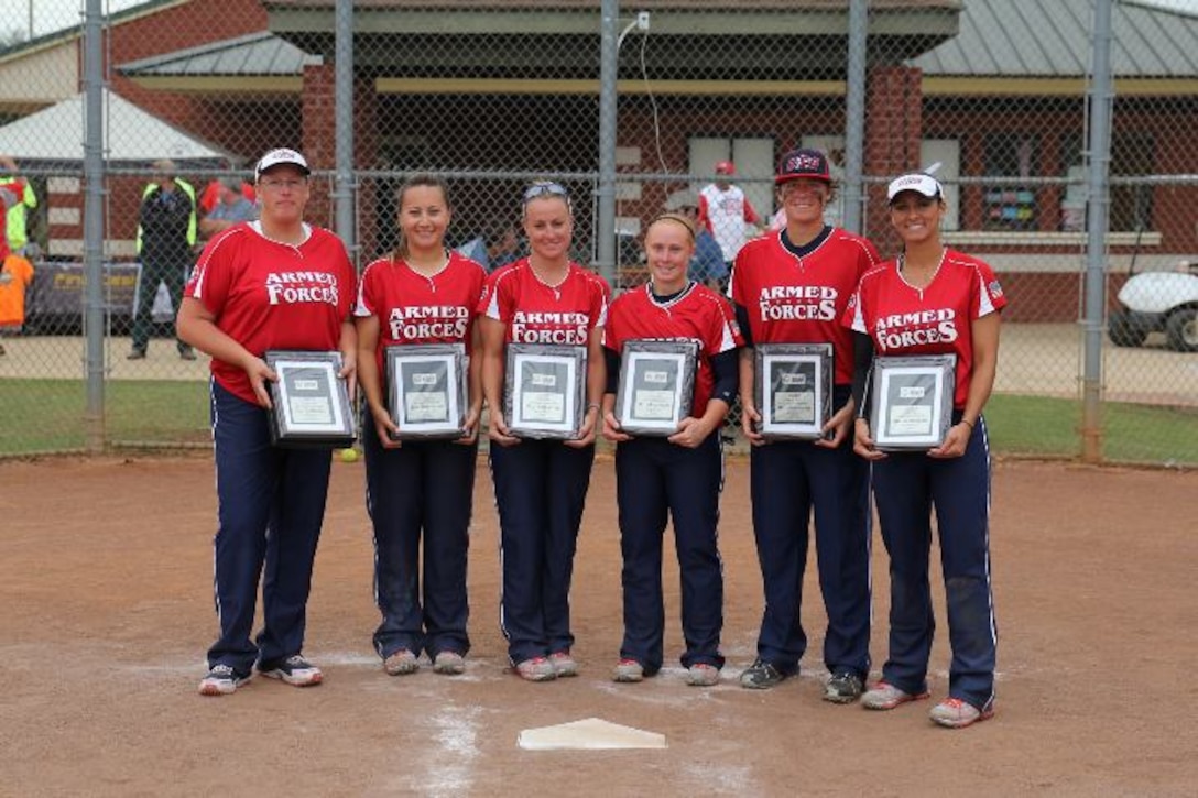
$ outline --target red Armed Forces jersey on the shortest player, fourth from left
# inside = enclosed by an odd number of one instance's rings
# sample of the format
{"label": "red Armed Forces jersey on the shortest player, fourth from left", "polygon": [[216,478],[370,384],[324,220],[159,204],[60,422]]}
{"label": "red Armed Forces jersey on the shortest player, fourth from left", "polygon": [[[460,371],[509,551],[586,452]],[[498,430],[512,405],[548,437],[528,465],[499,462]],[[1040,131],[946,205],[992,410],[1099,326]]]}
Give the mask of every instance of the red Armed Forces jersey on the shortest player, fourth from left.
{"label": "red Armed Forces jersey on the shortest player, fourth from left", "polygon": [[698,369],[690,409],[695,418],[707,411],[715,386],[712,358],[744,345],[728,301],[696,283],[668,302],[655,300],[648,283],[621,295],[611,303],[603,334],[603,345],[613,352],[623,351],[624,341],[641,338],[698,341]]}

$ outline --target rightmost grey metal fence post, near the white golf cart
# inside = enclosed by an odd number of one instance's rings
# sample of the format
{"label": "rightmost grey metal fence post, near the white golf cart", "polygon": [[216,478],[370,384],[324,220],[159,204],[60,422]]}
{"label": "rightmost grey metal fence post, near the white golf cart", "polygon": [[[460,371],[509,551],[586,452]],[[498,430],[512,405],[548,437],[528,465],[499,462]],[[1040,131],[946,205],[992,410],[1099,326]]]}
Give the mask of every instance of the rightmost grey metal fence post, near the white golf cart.
{"label": "rightmost grey metal fence post, near the white golf cart", "polygon": [[1102,460],[1102,328],[1106,316],[1107,226],[1111,168],[1111,0],[1094,8],[1094,75],[1090,84],[1089,207],[1084,289],[1085,349],[1082,374],[1082,460]]}

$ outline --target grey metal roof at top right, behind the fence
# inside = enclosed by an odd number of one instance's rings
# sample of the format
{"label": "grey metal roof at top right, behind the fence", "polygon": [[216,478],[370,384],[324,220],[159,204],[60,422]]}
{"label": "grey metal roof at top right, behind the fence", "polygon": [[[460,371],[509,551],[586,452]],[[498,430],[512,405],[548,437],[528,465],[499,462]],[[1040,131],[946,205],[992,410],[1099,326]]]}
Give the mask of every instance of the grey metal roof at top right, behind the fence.
{"label": "grey metal roof at top right, behind the fence", "polygon": [[[1084,75],[1093,20],[1094,0],[966,0],[961,32],[910,64],[937,77]],[[1198,14],[1124,0],[1111,28],[1115,75],[1198,75]]]}

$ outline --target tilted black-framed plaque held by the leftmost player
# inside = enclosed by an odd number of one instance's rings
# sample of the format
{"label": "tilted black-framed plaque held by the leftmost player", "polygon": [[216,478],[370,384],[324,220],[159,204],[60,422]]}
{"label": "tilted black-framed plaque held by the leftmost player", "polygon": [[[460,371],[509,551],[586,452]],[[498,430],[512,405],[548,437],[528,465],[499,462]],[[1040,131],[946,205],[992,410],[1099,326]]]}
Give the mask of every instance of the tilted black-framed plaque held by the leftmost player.
{"label": "tilted black-framed plaque held by the leftmost player", "polygon": [[347,448],[355,419],[349,386],[338,376],[340,352],[270,351],[264,358],[278,376],[271,393],[271,442],[282,447]]}

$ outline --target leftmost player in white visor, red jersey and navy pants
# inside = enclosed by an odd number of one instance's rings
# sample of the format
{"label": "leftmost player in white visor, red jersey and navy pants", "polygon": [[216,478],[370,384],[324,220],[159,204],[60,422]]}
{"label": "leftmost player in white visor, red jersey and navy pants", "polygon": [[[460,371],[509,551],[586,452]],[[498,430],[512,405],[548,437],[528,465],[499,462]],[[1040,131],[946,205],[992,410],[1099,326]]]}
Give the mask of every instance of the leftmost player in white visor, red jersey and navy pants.
{"label": "leftmost player in white visor, red jersey and navy pants", "polygon": [[[212,356],[220,636],[202,695],[234,693],[254,669],[297,687],[322,679],[302,649],[331,451],[271,445],[266,383],[278,375],[262,359],[267,350],[339,350],[340,375],[355,385],[353,266],[340,238],[303,220],[308,175],[294,150],[262,156],[261,218],[208,242],[179,310],[180,338]],[[264,567],[262,630],[250,640]]]}

